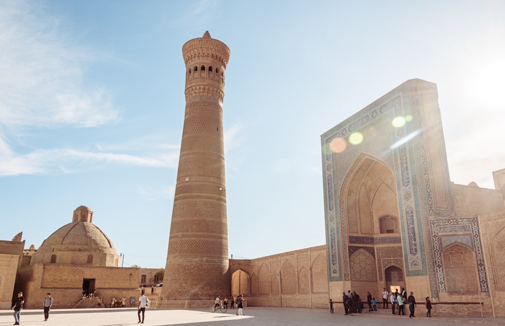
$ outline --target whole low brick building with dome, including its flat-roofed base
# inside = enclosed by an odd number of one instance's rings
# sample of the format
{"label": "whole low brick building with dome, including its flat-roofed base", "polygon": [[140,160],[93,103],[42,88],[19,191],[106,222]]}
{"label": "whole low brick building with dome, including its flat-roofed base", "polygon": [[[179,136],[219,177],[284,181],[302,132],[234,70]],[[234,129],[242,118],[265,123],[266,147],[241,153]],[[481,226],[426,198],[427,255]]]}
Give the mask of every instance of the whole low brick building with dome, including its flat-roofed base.
{"label": "whole low brick building with dome, including its flat-roofed base", "polygon": [[139,269],[121,267],[112,241],[92,219],[89,207],[77,207],[71,223],[23,257],[14,292],[23,292],[25,308],[40,309],[48,292],[58,298],[54,308],[104,307],[111,303],[102,298],[138,296]]}

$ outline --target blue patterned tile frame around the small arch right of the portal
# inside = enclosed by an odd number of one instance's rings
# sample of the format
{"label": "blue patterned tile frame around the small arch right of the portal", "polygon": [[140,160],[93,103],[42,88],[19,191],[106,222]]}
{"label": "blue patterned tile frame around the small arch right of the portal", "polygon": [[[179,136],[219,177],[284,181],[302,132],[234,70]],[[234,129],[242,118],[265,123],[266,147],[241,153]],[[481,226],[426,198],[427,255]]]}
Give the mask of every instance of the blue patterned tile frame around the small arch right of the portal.
{"label": "blue patterned tile frame around the small arch right of the portal", "polygon": [[[480,240],[479,225],[476,217],[473,218],[449,218],[449,219],[436,219],[430,221],[431,235],[433,240],[433,253],[435,257],[435,268],[436,277],[438,283],[438,292],[447,292],[447,287],[444,278],[444,263],[442,261],[442,253],[444,244],[447,246],[450,244],[462,244],[466,248],[473,248],[473,259],[475,260],[475,266],[477,267],[479,285],[481,292],[488,292],[488,281],[486,275],[486,269],[484,266],[484,257],[482,254],[482,243]],[[457,230],[466,229],[470,227],[470,234],[456,234],[451,235],[444,233],[440,235],[440,227],[444,231],[449,230],[447,226],[454,226]],[[463,226],[463,227],[461,227]],[[472,239],[472,245],[468,245],[469,237]],[[450,248],[450,247],[449,247]]]}

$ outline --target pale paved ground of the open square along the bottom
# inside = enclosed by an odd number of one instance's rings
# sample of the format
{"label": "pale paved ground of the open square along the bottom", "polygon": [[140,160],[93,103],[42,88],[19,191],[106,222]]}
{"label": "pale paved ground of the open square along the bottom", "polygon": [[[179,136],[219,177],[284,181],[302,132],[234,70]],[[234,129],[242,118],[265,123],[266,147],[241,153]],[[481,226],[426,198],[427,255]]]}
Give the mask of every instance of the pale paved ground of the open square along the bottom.
{"label": "pale paved ground of the open square along the bottom", "polygon": [[[379,309],[381,310],[381,309]],[[151,326],[185,325],[185,326],[326,326],[345,323],[346,326],[387,325],[415,326],[442,325],[455,326],[462,323],[483,323],[505,325],[505,318],[457,318],[432,317],[426,318],[425,309],[418,309],[417,317],[410,319],[408,315],[397,316],[387,311],[363,312],[352,316],[345,316],[335,310],[330,314],[326,309],[295,309],[295,308],[267,308],[247,307],[246,316],[236,316],[235,310],[226,313],[220,311],[211,313],[203,310],[163,310],[147,309],[144,324]],[[12,310],[0,310],[0,326],[12,325],[14,317]],[[42,310],[23,309],[21,325],[24,326],[122,326],[137,324],[137,310],[135,308],[118,309],[54,309],[49,320],[44,322]]]}

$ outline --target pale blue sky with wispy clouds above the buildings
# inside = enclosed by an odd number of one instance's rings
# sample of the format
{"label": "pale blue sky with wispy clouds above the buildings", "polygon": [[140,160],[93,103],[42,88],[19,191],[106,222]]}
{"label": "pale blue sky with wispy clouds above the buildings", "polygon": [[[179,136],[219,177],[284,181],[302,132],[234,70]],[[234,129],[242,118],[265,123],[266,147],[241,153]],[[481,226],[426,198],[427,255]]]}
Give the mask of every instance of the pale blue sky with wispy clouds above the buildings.
{"label": "pale blue sky with wispy clouds above the buildings", "polygon": [[1,1],[0,239],[38,248],[75,208],[124,265],[165,266],[182,45],[231,50],[229,253],[325,244],[320,135],[412,78],[438,85],[451,180],[505,168],[503,1]]}

